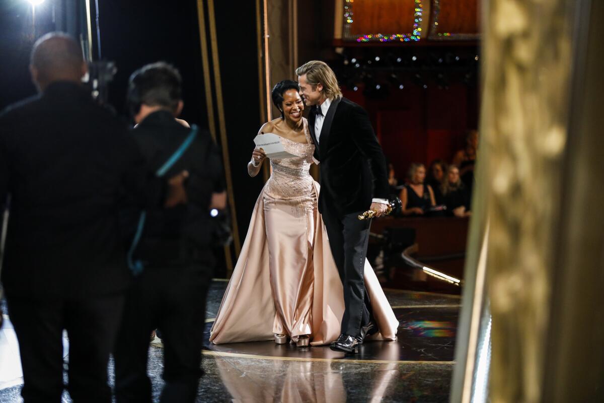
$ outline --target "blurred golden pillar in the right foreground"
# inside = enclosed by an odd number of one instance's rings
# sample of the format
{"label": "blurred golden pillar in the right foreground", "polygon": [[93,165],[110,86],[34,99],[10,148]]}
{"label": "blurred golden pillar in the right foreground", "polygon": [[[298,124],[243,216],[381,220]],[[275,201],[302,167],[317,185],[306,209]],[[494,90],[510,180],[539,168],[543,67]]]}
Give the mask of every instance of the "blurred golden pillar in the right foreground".
{"label": "blurred golden pillar in the right foreground", "polygon": [[[464,291],[453,402],[484,401],[477,390],[494,403],[604,401],[603,7],[483,7],[477,211],[465,276],[476,284]],[[476,385],[489,334],[489,384]]]}

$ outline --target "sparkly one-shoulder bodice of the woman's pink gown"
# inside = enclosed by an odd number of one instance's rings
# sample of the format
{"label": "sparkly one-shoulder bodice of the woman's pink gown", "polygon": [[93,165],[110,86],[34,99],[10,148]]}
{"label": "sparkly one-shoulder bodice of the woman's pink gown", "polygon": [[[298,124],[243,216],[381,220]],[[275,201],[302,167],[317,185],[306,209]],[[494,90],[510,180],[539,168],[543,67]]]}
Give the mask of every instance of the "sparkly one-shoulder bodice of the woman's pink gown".
{"label": "sparkly one-shoulder bodice of the woman's pink gown", "polygon": [[265,193],[275,199],[294,199],[313,193],[313,179],[310,176],[310,164],[315,146],[310,142],[308,126],[304,122],[304,134],[307,144],[297,143],[280,137],[283,148],[294,158],[271,160],[272,174],[266,182]]}

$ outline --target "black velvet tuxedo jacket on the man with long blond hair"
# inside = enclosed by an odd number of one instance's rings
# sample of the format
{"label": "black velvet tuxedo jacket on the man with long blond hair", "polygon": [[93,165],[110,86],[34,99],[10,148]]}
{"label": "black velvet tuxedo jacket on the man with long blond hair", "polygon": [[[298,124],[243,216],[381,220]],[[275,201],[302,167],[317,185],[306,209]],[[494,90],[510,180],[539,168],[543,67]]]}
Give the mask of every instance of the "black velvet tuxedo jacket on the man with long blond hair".
{"label": "black velvet tuxedo jacket on the man with long blond hair", "polygon": [[333,100],[318,144],[315,116],[311,110],[310,135],[321,173],[319,211],[357,213],[368,210],[373,198],[387,199],[386,160],[367,112],[347,98]]}

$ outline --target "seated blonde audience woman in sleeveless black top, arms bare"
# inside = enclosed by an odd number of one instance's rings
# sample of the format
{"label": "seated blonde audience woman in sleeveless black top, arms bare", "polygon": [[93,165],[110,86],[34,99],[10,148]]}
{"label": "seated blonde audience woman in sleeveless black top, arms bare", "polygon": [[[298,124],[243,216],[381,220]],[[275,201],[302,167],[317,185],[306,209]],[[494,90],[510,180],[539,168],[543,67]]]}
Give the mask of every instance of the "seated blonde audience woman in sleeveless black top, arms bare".
{"label": "seated blonde audience woman in sleeveless black top, arms bare", "polygon": [[411,164],[408,183],[400,191],[403,216],[423,216],[436,205],[432,187],[424,183],[426,168],[423,164]]}

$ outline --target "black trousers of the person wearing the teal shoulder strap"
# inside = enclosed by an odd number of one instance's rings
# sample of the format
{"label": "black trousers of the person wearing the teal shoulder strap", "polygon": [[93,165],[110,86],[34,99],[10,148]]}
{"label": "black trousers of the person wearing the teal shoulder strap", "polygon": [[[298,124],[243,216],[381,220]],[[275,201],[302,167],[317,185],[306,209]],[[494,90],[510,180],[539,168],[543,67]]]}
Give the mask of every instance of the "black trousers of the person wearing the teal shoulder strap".
{"label": "black trousers of the person wearing the teal shoulder strap", "polygon": [[151,402],[147,376],[153,329],[164,343],[161,402],[193,402],[201,370],[210,271],[202,266],[146,267],[130,288],[115,347],[117,403]]}

